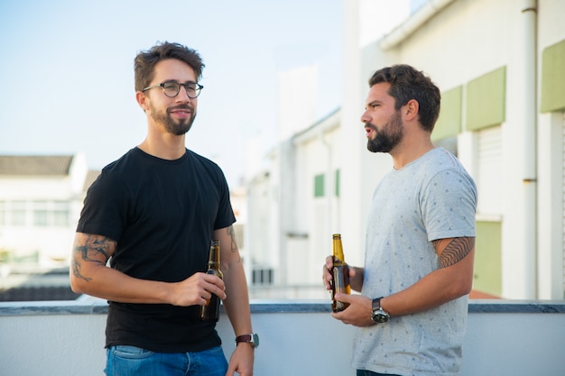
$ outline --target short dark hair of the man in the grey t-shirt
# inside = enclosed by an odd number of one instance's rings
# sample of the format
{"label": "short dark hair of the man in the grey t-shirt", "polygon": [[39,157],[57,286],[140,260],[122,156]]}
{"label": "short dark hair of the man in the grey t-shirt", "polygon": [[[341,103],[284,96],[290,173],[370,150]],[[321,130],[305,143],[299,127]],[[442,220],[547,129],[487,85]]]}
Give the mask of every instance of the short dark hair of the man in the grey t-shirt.
{"label": "short dark hair of the man in the grey t-shirt", "polygon": [[394,97],[394,108],[398,111],[411,99],[420,105],[418,115],[424,130],[431,132],[440,115],[441,93],[431,79],[422,71],[407,64],[397,64],[375,71],[369,78],[369,87],[387,82],[391,85],[388,94]]}

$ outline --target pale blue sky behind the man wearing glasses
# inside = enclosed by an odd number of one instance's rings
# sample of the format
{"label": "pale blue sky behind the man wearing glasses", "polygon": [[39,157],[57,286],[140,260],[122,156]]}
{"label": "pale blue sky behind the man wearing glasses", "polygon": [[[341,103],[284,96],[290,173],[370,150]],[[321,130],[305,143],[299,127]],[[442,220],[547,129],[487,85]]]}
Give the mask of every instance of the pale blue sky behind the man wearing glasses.
{"label": "pale blue sky behind the man wearing glasses", "polygon": [[[0,1],[0,154],[83,152],[100,170],[144,140],[134,57],[158,41],[206,68],[186,145],[230,186],[245,140],[277,140],[278,74],[316,64],[316,115],[341,103],[342,0]],[[300,87],[297,87],[297,91]],[[292,109],[290,109],[292,110]]]}

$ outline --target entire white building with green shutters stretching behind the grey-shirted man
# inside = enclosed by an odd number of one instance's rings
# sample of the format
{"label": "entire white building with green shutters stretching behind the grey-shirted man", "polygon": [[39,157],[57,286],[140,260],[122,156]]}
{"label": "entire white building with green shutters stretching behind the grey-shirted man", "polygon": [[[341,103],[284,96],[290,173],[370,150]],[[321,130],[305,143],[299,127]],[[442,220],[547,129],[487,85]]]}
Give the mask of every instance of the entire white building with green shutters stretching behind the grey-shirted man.
{"label": "entire white building with green shutters stretching behind the grey-shirted man", "polygon": [[392,168],[366,151],[367,80],[407,63],[441,89],[433,141],[477,182],[475,289],[564,298],[565,2],[432,0],[370,41],[366,23],[385,17],[344,1],[342,107],[281,142],[249,183],[248,254],[297,298],[327,297],[331,234],[342,234],[349,263],[363,263],[366,207]]}

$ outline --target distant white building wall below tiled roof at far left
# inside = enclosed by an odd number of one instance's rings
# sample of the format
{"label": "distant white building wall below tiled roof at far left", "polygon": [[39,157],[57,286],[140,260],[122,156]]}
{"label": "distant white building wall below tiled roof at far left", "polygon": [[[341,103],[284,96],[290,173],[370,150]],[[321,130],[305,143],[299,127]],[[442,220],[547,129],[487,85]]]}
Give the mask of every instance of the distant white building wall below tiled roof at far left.
{"label": "distant white building wall below tiled roof at far left", "polygon": [[8,261],[52,267],[68,263],[88,167],[73,157],[69,174],[0,179],[0,250]]}

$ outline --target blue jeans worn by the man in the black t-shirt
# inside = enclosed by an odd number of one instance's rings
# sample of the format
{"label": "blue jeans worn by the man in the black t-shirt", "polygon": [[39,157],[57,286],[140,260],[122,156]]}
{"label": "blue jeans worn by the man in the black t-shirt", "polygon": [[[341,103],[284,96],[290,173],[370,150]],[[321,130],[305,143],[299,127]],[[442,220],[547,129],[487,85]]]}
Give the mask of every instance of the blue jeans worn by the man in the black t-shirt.
{"label": "blue jeans worn by the man in the black t-shirt", "polygon": [[135,346],[107,349],[107,376],[226,376],[221,346],[199,353],[153,353]]}

